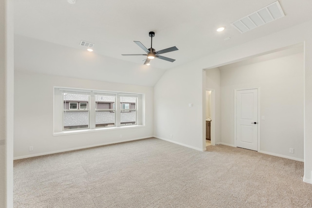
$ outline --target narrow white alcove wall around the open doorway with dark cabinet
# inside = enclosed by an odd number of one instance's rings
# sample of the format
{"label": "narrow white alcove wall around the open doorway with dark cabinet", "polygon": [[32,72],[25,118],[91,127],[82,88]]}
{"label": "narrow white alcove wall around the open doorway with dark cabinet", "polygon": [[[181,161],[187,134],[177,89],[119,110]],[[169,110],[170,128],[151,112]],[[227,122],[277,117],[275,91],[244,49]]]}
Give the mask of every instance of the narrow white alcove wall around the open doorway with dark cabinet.
{"label": "narrow white alcove wall around the open doorway with dark cabinet", "polygon": [[[218,68],[206,70],[206,89],[215,90],[215,112],[211,128],[215,128],[215,143],[221,142],[221,101],[220,101],[220,70]],[[213,133],[214,130],[212,130]]]}

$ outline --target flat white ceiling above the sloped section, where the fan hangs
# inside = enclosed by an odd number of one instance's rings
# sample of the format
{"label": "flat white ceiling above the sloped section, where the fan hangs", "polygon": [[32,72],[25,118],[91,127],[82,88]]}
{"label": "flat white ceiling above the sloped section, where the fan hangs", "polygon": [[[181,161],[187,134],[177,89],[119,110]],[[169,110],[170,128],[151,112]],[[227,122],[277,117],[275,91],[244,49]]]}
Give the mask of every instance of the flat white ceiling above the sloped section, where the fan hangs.
{"label": "flat white ceiling above the sloped section, where the fan hangs", "polygon": [[[312,0],[279,0],[285,17],[241,34],[231,23],[275,0],[14,0],[15,33],[85,50],[80,40],[95,43],[94,52],[137,64],[144,54],[133,41],[150,48],[148,33],[156,33],[153,48],[176,46],[155,59],[153,68],[170,69],[312,19]],[[226,30],[215,30],[225,26]],[[225,41],[224,38],[231,37]]]}

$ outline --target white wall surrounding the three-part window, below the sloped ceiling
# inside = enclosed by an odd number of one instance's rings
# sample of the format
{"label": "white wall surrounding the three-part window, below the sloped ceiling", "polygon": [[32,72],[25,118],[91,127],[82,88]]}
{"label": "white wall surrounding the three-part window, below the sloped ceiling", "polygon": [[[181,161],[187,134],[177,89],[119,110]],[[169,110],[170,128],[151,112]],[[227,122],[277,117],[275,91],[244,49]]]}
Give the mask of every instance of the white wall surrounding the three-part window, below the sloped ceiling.
{"label": "white wall surrounding the three-part window, below the sloped ceiling", "polygon": [[[53,136],[54,87],[145,94],[145,126]],[[153,135],[153,96],[152,87],[16,71],[14,157],[150,137]],[[29,146],[33,146],[34,151],[29,151]]]}

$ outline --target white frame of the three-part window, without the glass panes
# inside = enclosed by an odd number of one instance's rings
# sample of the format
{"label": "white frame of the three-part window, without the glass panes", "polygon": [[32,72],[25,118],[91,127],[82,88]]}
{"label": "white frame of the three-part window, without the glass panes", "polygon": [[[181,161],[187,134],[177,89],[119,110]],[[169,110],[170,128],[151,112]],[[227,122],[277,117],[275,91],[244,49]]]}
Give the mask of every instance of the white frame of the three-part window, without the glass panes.
{"label": "white frame of the three-part window, without the glass panes", "polygon": [[[78,100],[74,100],[77,103],[78,109],[69,109],[69,100],[64,98],[64,94],[80,94],[80,95],[88,95],[87,109],[80,109],[80,102]],[[115,126],[107,126],[107,127],[96,127],[96,111],[99,109],[97,106],[95,95],[97,94],[105,94],[105,95],[114,95],[115,103],[111,103],[111,107],[113,109],[107,109],[107,111],[111,111],[115,113]],[[136,111],[136,119],[133,124],[121,124],[121,107],[120,107],[120,97],[136,97],[136,105],[135,109],[129,109],[130,111]],[[65,101],[66,100],[66,101]],[[68,102],[68,109],[66,109],[66,104],[64,102]],[[71,102],[73,103],[73,102]],[[79,103],[79,107],[78,107]],[[114,105],[115,104],[115,105]],[[106,130],[114,130],[119,128],[134,128],[134,127],[144,127],[145,126],[145,95],[144,94],[133,94],[133,93],[121,93],[121,92],[112,92],[112,91],[93,91],[93,90],[84,90],[84,89],[73,89],[73,88],[60,88],[54,87],[54,133],[53,135],[64,135],[63,133],[79,133],[79,132],[89,132],[89,131],[106,131]],[[142,105],[142,106],[141,106]],[[129,108],[132,104],[130,102]],[[126,109],[128,111],[128,109]],[[62,113],[59,113],[61,111]],[[64,129],[64,112],[88,112],[88,127],[86,128],[78,128],[78,129]],[[131,118],[130,118],[131,119]],[[127,122],[122,118],[124,122]]]}

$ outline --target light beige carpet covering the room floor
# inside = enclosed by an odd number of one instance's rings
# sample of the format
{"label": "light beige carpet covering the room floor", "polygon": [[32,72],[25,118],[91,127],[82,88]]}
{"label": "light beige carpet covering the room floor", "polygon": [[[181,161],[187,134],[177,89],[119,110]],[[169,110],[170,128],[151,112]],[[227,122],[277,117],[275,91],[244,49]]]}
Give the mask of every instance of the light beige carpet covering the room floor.
{"label": "light beige carpet covering the room floor", "polygon": [[303,163],[156,138],[14,161],[14,208],[311,208]]}

